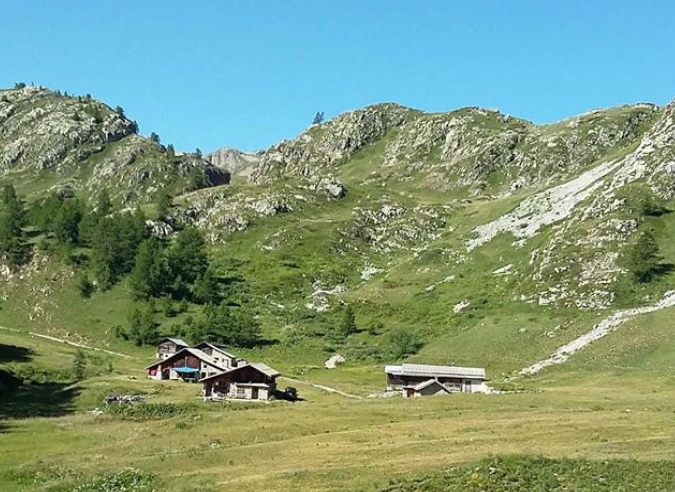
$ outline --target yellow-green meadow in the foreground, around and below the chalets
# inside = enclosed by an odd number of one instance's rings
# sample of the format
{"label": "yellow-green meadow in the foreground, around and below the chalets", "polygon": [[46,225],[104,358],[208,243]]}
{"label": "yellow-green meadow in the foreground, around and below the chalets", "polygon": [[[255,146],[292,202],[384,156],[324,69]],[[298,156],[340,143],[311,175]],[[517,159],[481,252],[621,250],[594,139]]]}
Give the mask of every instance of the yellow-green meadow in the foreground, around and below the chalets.
{"label": "yellow-green meadow in the foreground, around and below the chalets", "polygon": [[[665,327],[661,321],[667,317],[657,313],[640,322]],[[305,401],[227,406],[201,402],[196,385],[145,379],[145,357],[138,354],[87,352],[87,379],[68,382],[75,348],[0,330],[0,368],[35,380],[28,394],[10,393],[0,405],[0,490],[73,490],[131,467],[155,474],[152,487],[176,492],[375,491],[394,487],[397,480],[403,482],[391,490],[498,491],[496,485],[441,485],[454,483],[448,478],[453,473],[465,476],[466,468],[456,465],[476,462],[466,466],[485,468],[480,460],[490,456],[523,454],[553,460],[538,472],[541,483],[566,466],[560,458],[590,459],[587,467],[598,460],[629,460],[597,465],[617,470],[647,461],[659,469],[675,453],[675,380],[664,370],[671,365],[668,357],[658,350],[665,328],[639,335],[637,323],[598,342],[568,367],[523,380],[527,391],[521,393],[359,400],[293,383]],[[641,343],[628,350],[636,337]],[[48,396],[38,396],[40,371],[62,381]],[[303,378],[361,395],[381,390],[384,383],[381,367],[367,365],[309,371]],[[285,384],[291,385],[282,379],[280,385]],[[169,403],[172,412],[145,418],[88,412],[102,407],[102,398],[111,393],[143,394],[148,402]],[[12,404],[17,398],[41,406],[18,410]],[[38,411],[44,407],[52,410]],[[460,471],[442,472],[448,468]],[[431,477],[425,479],[431,485],[411,488],[417,482],[410,476]],[[654,490],[672,490],[657,485]],[[101,487],[81,490],[109,490]]]}

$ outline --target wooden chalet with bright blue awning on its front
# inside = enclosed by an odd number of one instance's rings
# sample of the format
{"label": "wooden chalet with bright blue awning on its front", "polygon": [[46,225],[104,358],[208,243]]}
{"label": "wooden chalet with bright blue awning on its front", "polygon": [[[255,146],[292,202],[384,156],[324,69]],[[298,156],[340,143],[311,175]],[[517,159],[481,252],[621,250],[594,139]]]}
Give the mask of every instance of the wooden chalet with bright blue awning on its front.
{"label": "wooden chalet with bright blue awning on its front", "polygon": [[147,367],[148,377],[152,379],[180,379],[197,382],[228,370],[221,360],[202,350],[187,347],[175,354],[160,359]]}

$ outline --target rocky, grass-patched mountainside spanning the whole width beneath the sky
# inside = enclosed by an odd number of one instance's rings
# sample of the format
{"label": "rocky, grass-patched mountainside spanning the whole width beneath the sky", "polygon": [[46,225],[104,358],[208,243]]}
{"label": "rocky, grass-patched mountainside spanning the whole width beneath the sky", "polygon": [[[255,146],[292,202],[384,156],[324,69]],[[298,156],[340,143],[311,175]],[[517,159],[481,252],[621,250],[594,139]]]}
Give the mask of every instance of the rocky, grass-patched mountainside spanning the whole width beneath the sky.
{"label": "rocky, grass-patched mountainside spanning the whole width beneath the sky", "polygon": [[[551,125],[479,108],[378,104],[265,151],[202,160],[169,155],[88,98],[35,88],[0,95],[3,179],[27,193],[68,184],[88,195],[116,176],[125,203],[168,186],[170,220],[205,231],[237,302],[293,346],[316,347],[347,303],[363,328],[339,347],[350,358],[379,357],[388,333],[404,328],[424,339],[419,360],[513,374],[591,330],[597,316],[660,306],[675,288],[668,268],[645,285],[626,268],[648,228],[664,266],[675,263],[675,103]],[[194,169],[211,186],[191,190]],[[228,173],[238,179],[213,186]],[[663,213],[645,214],[647,198]],[[50,265],[53,276],[61,267]],[[31,278],[34,289],[44,277]],[[8,306],[22,295],[13,282],[3,288]],[[72,330],[64,299],[45,297],[49,319]]]}

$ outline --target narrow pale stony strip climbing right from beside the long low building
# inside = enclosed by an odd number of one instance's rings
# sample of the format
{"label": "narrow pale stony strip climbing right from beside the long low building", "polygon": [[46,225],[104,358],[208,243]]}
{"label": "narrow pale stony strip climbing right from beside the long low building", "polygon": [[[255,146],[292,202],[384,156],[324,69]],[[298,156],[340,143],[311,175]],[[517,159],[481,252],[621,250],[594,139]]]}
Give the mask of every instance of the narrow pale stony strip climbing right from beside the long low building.
{"label": "narrow pale stony strip climbing right from beside the long low building", "polygon": [[660,311],[661,309],[666,309],[669,307],[675,306],[675,290],[666,292],[663,295],[663,298],[651,306],[646,306],[642,308],[635,309],[625,309],[623,311],[617,311],[616,313],[606,317],[600,323],[595,325],[591,331],[584,333],[580,337],[575,338],[568,344],[563,345],[558,348],[551,356],[544,360],[540,360],[535,364],[532,364],[530,367],[526,367],[520,371],[522,375],[531,375],[536,374],[542,369],[552,366],[555,364],[562,364],[567,361],[570,356],[579,350],[586,347],[588,344],[598,340],[604,336],[609,335],[611,332],[616,330],[626,321],[635,318],[641,314],[653,313],[655,311]]}

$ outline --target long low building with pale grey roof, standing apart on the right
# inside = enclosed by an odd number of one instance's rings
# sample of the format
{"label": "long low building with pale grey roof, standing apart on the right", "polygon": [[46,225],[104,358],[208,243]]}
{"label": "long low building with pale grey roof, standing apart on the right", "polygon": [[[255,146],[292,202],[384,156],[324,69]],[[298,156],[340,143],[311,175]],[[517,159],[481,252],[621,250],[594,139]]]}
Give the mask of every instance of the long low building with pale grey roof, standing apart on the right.
{"label": "long low building with pale grey roof, standing apart on the right", "polygon": [[445,393],[487,393],[485,369],[478,367],[402,364],[385,366],[387,391],[406,398]]}

